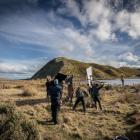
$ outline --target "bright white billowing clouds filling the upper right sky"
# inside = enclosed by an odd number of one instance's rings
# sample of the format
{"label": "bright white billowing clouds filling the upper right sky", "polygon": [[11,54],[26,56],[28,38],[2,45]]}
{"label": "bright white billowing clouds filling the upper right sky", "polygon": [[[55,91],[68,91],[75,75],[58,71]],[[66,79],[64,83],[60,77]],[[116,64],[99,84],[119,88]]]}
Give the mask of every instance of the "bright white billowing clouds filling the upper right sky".
{"label": "bright white billowing clouds filling the upper right sky", "polygon": [[65,1],[66,7],[59,10],[74,16],[84,28],[100,41],[118,41],[116,32],[127,33],[132,39],[140,36],[140,2],[122,0],[82,1],[82,8],[74,0]]}

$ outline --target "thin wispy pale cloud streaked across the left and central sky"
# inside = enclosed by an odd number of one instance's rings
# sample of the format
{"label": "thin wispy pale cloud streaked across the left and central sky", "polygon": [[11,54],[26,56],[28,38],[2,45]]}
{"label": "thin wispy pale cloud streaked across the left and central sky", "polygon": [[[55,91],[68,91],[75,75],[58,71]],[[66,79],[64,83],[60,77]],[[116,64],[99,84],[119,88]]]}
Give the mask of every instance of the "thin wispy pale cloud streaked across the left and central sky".
{"label": "thin wispy pale cloud streaked across the left and central sky", "polygon": [[[0,26],[0,32],[11,42],[39,45],[44,51],[57,50],[56,53],[60,55],[72,52],[81,52],[81,55],[92,53],[88,36],[53,13],[46,15],[41,11],[38,15],[11,15],[4,20],[5,24]],[[58,21],[60,23],[54,25]]]}

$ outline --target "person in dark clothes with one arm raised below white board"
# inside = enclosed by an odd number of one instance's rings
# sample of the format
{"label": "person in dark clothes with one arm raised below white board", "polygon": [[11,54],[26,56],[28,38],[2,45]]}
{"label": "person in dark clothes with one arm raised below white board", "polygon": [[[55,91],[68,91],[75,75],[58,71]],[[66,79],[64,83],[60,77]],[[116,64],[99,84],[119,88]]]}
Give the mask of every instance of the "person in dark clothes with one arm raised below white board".
{"label": "person in dark clothes with one arm raised below white board", "polygon": [[102,110],[102,105],[101,105],[99,90],[103,86],[104,86],[104,83],[102,83],[101,85],[99,85],[98,83],[92,83],[92,87],[91,87],[91,94],[92,94],[92,98],[95,104],[95,108],[97,109],[97,103],[98,103],[100,110]]}

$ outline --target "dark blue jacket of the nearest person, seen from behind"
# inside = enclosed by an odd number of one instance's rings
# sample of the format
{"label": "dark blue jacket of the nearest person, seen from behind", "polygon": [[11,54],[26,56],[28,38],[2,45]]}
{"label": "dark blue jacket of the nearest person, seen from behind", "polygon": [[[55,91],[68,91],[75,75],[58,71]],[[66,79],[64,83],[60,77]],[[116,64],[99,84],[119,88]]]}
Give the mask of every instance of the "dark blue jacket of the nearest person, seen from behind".
{"label": "dark blue jacket of the nearest person, seen from behind", "polygon": [[61,99],[61,90],[62,87],[60,85],[54,85],[51,87],[51,101],[55,102],[55,101],[59,101]]}

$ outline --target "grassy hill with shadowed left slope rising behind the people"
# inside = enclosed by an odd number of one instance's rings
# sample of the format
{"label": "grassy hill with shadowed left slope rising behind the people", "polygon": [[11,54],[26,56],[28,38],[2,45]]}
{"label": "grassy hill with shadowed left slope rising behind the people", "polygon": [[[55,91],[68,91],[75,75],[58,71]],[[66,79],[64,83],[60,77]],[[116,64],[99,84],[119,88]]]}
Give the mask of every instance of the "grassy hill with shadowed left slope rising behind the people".
{"label": "grassy hill with shadowed left slope rising behind the people", "polygon": [[140,77],[140,68],[121,67],[115,68],[95,63],[84,63],[64,57],[58,57],[48,62],[43,68],[32,76],[32,79],[43,79],[46,76],[55,76],[58,72],[75,77],[86,78],[86,68],[93,67],[94,76],[98,79],[119,78],[121,73],[125,77]]}

